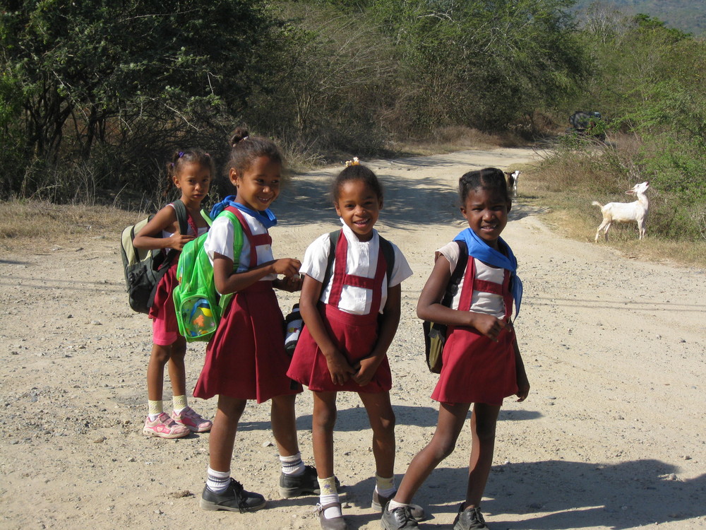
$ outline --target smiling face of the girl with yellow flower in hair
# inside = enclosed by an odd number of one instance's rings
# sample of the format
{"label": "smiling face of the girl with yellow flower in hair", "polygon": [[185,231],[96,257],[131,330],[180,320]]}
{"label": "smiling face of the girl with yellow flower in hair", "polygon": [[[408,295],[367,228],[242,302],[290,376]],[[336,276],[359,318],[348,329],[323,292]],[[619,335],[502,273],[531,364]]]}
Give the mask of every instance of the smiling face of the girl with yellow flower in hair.
{"label": "smiling face of the girl with yellow flower in hair", "polygon": [[333,204],[336,213],[361,241],[373,237],[375,225],[383,207],[383,201],[362,180],[348,180],[338,189]]}

